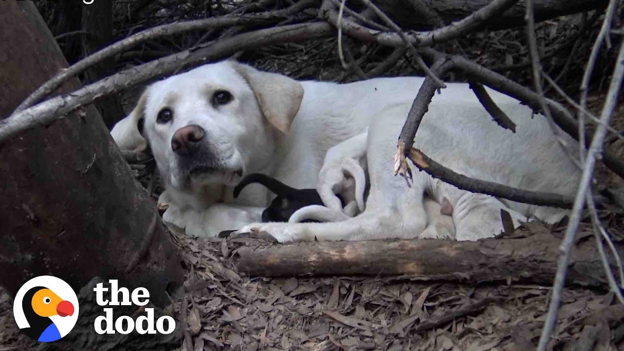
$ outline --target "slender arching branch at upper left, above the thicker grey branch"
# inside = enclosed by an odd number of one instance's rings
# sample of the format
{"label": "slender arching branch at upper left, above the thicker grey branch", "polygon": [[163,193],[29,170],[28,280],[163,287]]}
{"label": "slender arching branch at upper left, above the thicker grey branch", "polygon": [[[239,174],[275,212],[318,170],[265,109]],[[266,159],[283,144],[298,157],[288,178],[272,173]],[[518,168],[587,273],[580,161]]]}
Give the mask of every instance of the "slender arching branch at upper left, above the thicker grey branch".
{"label": "slender arching branch at upper left, above the thicker grey branch", "polygon": [[288,7],[287,9],[281,9],[276,11],[264,12],[254,15],[243,16],[231,16],[231,17],[212,17],[206,19],[197,19],[195,21],[176,22],[171,24],[163,24],[162,26],[152,27],[142,32],[138,32],[122,41],[115,42],[114,44],[104,47],[104,49],[95,52],[94,54],[85,57],[84,59],[76,62],[71,67],[62,70],[55,77],[52,77],[49,81],[44,83],[36,91],[34,91],[29,97],[26,98],[11,116],[17,114],[17,112],[23,111],[27,107],[31,107],[37,102],[41,101],[44,97],[52,94],[58,87],[66,82],[67,79],[84,72],[89,67],[104,61],[105,59],[112,57],[120,52],[129,49],[130,47],[137,46],[138,44],[155,39],[157,37],[171,36],[182,32],[192,31],[195,29],[206,28],[223,28],[231,26],[252,25],[252,24],[268,24],[271,22],[279,21],[283,17],[288,17],[291,14],[300,12],[302,9],[311,7],[318,4],[318,0],[303,0],[297,2],[295,5]]}

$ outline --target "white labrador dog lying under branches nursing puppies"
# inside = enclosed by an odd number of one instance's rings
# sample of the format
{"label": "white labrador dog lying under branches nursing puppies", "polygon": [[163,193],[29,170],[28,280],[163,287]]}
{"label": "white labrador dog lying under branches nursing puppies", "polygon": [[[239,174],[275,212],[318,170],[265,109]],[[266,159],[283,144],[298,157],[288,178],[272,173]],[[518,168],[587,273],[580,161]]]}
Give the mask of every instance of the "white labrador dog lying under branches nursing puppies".
{"label": "white labrador dog lying under branches nursing puppies", "polygon": [[[396,138],[422,81],[299,82],[232,61],[207,64],[149,86],[111,134],[121,149],[141,150],[149,142],[165,179],[160,202],[170,205],[163,219],[192,235],[240,228],[259,229],[280,242],[417,237],[432,222],[425,193],[439,204],[449,202],[459,240],[499,234],[500,209],[516,225],[527,217],[553,222],[565,215],[459,190],[417,170],[411,187],[394,177]],[[467,84],[452,83],[434,97],[415,145],[472,177],[572,195],[579,172],[544,117],[532,118],[515,99],[489,92],[517,133],[492,122]],[[326,152],[343,142],[353,157],[366,155],[371,189],[362,214],[338,223],[255,223],[268,192],[253,187],[232,198],[232,187],[251,172],[297,188],[316,187]]]}

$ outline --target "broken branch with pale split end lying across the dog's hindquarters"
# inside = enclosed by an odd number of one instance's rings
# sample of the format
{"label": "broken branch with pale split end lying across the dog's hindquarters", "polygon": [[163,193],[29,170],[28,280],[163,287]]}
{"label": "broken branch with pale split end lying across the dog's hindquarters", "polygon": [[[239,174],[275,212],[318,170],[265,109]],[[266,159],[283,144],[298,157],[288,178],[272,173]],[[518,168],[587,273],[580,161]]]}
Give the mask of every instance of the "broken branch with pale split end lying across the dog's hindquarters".
{"label": "broken branch with pale split end lying across the dog's hindquarters", "polygon": [[434,178],[441,179],[448,184],[455,185],[459,189],[469,192],[479,192],[494,197],[502,197],[507,200],[524,202],[525,204],[561,207],[565,209],[572,207],[574,200],[561,194],[522,190],[495,182],[489,182],[487,180],[470,178],[466,175],[451,171],[451,169],[442,166],[419,149],[414,149],[413,147],[408,152],[407,157],[409,157],[409,159],[414,162],[414,165],[421,171],[425,171]]}

